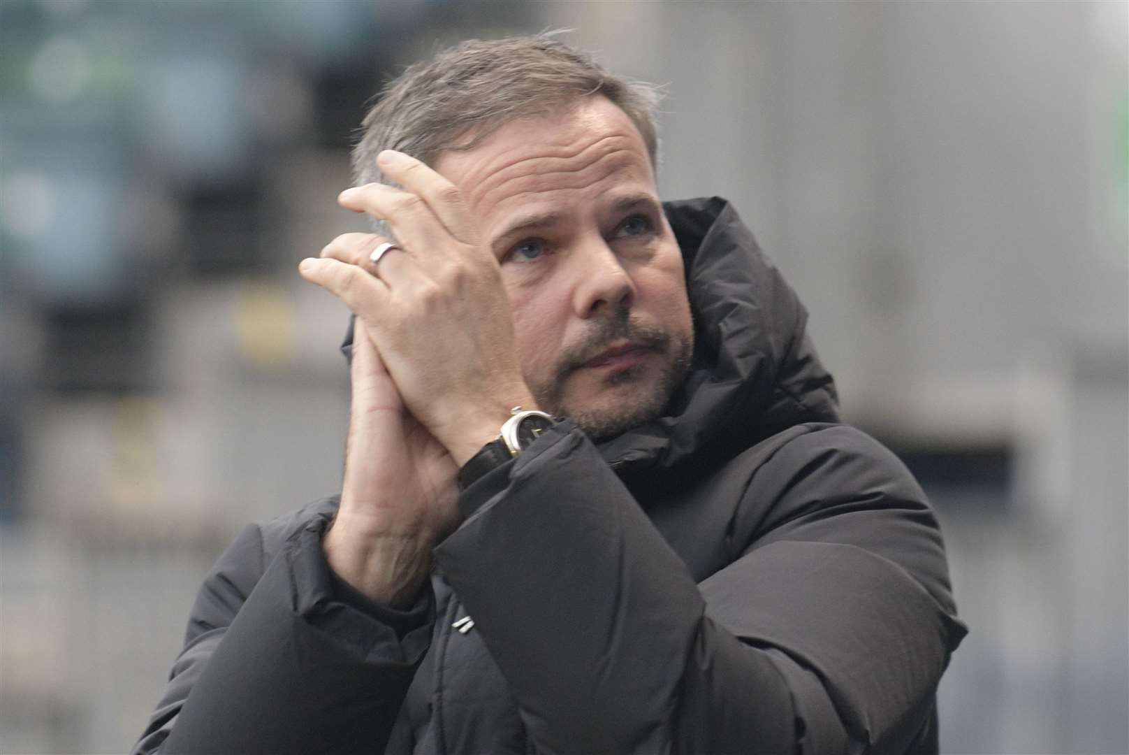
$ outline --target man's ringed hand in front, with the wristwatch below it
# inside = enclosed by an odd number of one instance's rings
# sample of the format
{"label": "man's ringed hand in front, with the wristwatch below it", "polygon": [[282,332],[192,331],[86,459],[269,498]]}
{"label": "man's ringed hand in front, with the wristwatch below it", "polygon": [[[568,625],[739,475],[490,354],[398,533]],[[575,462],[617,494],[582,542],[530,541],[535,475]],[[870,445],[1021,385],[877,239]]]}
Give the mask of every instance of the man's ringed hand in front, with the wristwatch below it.
{"label": "man's ringed hand in front, with the wristwatch below it", "polygon": [[374,268],[368,254],[384,240],[344,234],[299,270],[365,321],[409,410],[462,466],[498,435],[511,407],[536,408],[501,270],[454,184],[402,153],[379,159],[404,189],[370,183],[338,201],[386,220],[402,249]]}

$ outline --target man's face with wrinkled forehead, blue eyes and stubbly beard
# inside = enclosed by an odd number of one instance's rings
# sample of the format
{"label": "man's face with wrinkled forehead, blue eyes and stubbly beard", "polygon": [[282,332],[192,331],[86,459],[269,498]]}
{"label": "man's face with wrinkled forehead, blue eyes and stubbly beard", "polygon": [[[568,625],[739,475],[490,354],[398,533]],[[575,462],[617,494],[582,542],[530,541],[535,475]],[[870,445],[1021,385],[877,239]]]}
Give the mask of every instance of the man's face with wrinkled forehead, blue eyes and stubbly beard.
{"label": "man's face with wrinkled forehead, blue eyes and stubbly beard", "polygon": [[501,264],[541,407],[597,439],[659,416],[689,367],[693,327],[682,254],[623,111],[584,97],[435,167]]}

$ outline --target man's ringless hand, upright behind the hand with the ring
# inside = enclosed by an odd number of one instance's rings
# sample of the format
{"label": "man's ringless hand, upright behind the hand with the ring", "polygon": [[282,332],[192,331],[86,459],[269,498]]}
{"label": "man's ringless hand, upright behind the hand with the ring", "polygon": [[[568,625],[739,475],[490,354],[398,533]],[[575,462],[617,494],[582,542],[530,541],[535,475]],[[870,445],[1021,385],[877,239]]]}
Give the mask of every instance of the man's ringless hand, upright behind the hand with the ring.
{"label": "man's ringless hand, upright behind the hand with the ring", "polygon": [[326,561],[374,600],[410,604],[431,548],[458,526],[458,467],[404,406],[360,318],[350,378],[344,483],[323,540]]}

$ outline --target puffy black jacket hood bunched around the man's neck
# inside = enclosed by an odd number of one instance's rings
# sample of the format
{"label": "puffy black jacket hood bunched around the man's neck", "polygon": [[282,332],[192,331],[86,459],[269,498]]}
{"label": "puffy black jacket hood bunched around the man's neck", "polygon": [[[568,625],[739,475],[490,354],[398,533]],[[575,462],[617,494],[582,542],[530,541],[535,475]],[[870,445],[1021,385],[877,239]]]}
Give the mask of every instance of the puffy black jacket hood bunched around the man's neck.
{"label": "puffy black jacket hood bunched around the man's neck", "polygon": [[793,425],[839,422],[807,311],[725,199],[665,202],[686,270],[694,362],[667,416],[602,444],[616,466],[724,461]]}

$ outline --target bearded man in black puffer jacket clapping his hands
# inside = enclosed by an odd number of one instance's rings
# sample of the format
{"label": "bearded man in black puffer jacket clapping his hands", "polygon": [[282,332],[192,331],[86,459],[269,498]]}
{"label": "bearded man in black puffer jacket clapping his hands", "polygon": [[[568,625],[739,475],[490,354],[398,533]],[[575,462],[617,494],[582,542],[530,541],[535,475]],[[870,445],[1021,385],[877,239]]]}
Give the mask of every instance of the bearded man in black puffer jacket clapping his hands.
{"label": "bearded man in black puffer jacket clapping his hands", "polygon": [[300,264],[340,501],[221,556],[137,752],[936,752],[936,520],[733,209],[659,203],[653,105],[546,36],[390,85],[382,233]]}

